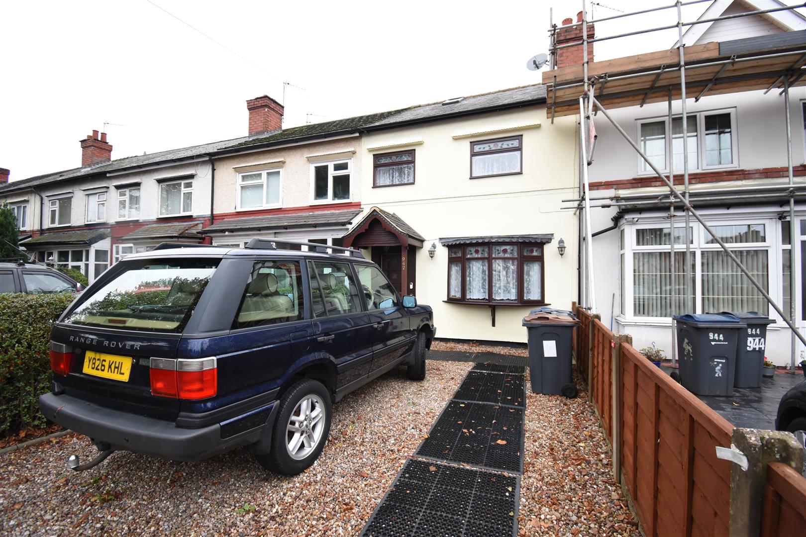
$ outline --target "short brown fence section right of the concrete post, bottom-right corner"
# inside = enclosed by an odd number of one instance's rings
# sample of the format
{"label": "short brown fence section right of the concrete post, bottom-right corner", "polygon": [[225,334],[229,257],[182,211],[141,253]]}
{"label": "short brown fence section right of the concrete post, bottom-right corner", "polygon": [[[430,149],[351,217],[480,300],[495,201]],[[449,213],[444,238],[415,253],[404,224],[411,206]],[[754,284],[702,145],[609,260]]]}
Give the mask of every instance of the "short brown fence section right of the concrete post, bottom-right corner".
{"label": "short brown fence section right of the concrete post, bottom-right corner", "polygon": [[806,535],[806,477],[780,462],[767,466],[763,537]]}

